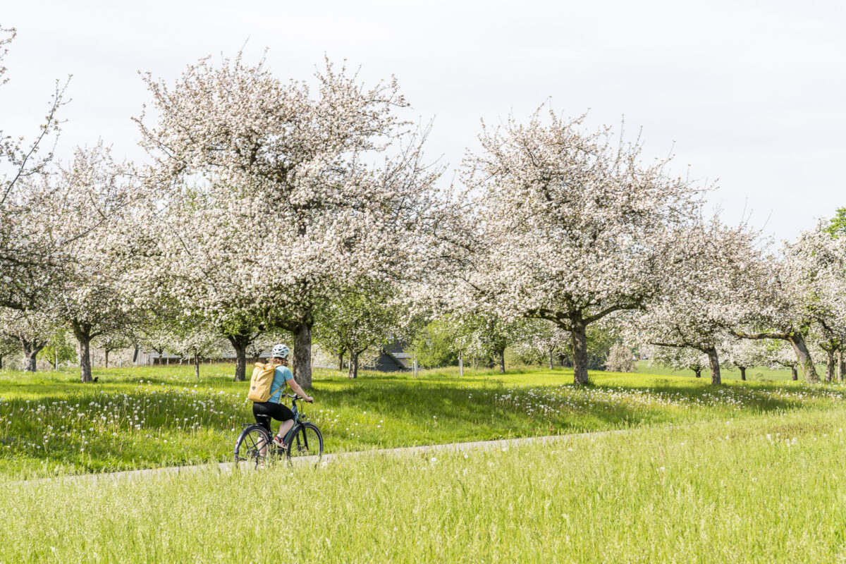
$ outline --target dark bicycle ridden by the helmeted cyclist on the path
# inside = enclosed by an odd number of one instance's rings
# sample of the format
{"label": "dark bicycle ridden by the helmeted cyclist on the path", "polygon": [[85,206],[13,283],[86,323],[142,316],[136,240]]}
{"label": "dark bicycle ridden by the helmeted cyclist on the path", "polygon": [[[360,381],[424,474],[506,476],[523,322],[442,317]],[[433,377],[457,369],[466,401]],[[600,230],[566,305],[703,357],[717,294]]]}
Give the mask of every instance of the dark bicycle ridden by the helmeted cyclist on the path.
{"label": "dark bicycle ridden by the helmeted cyclist on the path", "polygon": [[[255,469],[267,463],[275,463],[285,457],[293,465],[294,458],[316,456],[315,468],[323,456],[323,435],[316,424],[305,420],[297,408],[297,400],[303,399],[296,394],[283,394],[291,398],[291,411],[294,412],[294,426],[285,435],[284,450],[273,444],[273,435],[261,424],[242,424],[241,434],[235,441],[235,468]],[[258,415],[267,418],[268,427],[272,423],[270,415]]]}

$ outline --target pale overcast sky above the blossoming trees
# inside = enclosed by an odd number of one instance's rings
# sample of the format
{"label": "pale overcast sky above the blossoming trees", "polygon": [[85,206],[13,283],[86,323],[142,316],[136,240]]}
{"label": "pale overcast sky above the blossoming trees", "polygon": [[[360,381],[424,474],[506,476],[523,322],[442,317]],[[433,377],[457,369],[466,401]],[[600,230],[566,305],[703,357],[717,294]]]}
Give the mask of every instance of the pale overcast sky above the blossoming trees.
{"label": "pale overcast sky above the blossoming trees", "polygon": [[[142,159],[130,120],[150,100],[138,71],[173,80],[199,57],[234,54],[282,79],[348,59],[395,74],[434,118],[431,156],[457,166],[480,119],[526,118],[549,99],[589,123],[643,129],[646,152],[717,180],[712,205],[793,238],[846,206],[846,3],[371,2],[150,0],[11,2],[0,127],[32,134],[54,79],[73,74],[58,153],[98,138]],[[249,40],[249,41],[248,41]],[[451,178],[451,174],[447,175]]]}

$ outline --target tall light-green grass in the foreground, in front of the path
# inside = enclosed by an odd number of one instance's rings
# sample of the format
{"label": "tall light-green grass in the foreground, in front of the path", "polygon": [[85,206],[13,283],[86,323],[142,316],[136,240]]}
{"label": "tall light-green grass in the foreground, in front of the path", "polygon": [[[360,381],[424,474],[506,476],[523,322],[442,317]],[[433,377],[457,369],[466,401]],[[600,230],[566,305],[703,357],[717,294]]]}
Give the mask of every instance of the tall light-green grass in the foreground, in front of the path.
{"label": "tall light-green grass in the foreground, in front of the path", "polygon": [[0,485],[8,562],[842,562],[846,409],[356,457]]}

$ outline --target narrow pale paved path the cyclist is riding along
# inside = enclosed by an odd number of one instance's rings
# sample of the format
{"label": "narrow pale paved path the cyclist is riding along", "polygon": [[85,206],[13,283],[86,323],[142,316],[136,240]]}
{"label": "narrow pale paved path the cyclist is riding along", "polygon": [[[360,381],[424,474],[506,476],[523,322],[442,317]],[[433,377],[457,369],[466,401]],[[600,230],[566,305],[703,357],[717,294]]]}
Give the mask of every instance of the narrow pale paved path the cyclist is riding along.
{"label": "narrow pale paved path the cyclist is riding along", "polygon": [[[625,433],[626,430],[607,430],[607,431],[593,431],[591,433],[573,433],[570,435],[547,435],[535,437],[521,437],[519,439],[501,439],[498,441],[473,441],[473,442],[451,442],[445,445],[423,445],[423,446],[401,446],[399,448],[381,448],[371,451],[352,451],[352,452],[338,452],[337,454],[324,454],[322,462],[332,463],[338,462],[346,458],[354,457],[371,457],[371,456],[414,456],[418,454],[428,454],[431,452],[460,452],[460,451],[474,451],[474,450],[502,450],[503,448],[511,446],[521,446],[532,443],[548,444],[560,441],[572,441],[574,439],[596,438],[605,435],[613,435],[617,433]],[[295,466],[307,466],[315,464],[316,457],[301,457],[294,460]],[[168,468],[146,468],[143,470],[129,470],[126,472],[109,472],[102,474],[74,474],[69,476],[60,476],[57,478],[39,478],[25,480],[22,482],[14,482],[13,484],[39,484],[45,482],[55,482],[57,480],[70,482],[102,482],[114,481],[118,479],[139,479],[151,478],[157,476],[173,476],[185,474],[190,472],[197,472],[198,470],[208,470],[217,468],[219,472],[231,472],[234,468],[233,463],[218,463],[218,464],[198,464],[196,466],[171,466]]]}

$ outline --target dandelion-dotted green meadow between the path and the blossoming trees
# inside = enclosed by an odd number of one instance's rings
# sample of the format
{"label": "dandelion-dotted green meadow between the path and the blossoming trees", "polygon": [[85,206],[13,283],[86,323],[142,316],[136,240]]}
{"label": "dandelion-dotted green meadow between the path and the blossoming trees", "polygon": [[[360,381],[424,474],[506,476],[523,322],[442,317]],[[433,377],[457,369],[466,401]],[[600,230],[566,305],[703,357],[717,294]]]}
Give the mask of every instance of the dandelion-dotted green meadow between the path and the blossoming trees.
{"label": "dandelion-dotted green meadow between the path and the blossoming trees", "polygon": [[[246,384],[231,365],[0,373],[0,478],[27,479],[228,461],[252,420]],[[838,408],[846,388],[801,382],[729,382],[643,374],[591,374],[574,388],[570,370],[410,375],[365,373],[350,381],[319,371],[309,418],[327,452],[555,435],[584,430]]]}

